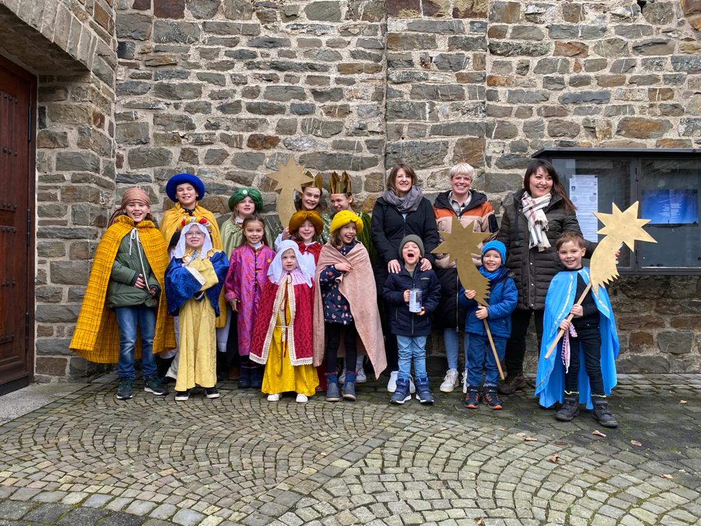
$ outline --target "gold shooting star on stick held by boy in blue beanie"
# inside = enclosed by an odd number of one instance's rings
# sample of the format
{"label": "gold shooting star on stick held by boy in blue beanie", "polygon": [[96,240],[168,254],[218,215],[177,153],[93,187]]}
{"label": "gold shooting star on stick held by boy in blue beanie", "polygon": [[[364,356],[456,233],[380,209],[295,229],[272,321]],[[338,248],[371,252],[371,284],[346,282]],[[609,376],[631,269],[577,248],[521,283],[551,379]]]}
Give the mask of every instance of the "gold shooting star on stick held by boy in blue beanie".
{"label": "gold shooting star on stick held by boy in blue beanie", "polygon": [[475,232],[470,221],[463,227],[457,217],[453,216],[451,232],[440,232],[445,241],[431,250],[432,254],[450,254],[449,262],[457,262],[458,277],[465,290],[477,292],[475,301],[480,305],[488,305],[489,279],[479,274],[472,262],[472,254],[479,254],[479,243],[491,236],[490,232]]}

